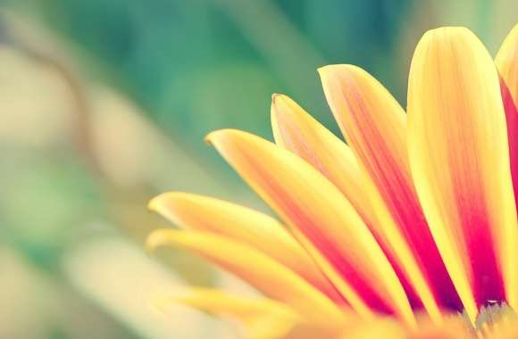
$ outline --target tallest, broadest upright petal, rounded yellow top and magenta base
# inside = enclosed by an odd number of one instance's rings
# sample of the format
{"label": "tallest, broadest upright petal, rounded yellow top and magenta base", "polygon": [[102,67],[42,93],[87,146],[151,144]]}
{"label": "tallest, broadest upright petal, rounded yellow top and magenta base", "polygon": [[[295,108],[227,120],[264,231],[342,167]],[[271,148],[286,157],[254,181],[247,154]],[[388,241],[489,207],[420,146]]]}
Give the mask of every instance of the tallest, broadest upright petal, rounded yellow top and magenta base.
{"label": "tallest, broadest upright petal, rounded yellow top and magenta base", "polygon": [[473,319],[477,303],[504,299],[500,269],[516,305],[505,114],[495,65],[471,31],[434,29],[422,37],[410,71],[408,119],[414,183],[465,310]]}

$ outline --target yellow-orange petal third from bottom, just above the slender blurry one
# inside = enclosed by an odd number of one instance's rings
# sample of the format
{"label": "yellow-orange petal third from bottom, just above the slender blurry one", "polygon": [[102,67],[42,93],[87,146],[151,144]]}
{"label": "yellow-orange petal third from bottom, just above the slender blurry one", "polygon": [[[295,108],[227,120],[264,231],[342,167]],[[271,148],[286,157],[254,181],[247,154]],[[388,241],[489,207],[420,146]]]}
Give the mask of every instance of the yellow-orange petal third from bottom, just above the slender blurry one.
{"label": "yellow-orange petal third from bottom, just above the slender blurry one", "polygon": [[180,227],[229,236],[255,247],[297,272],[333,301],[344,302],[300,244],[272,217],[234,203],[181,192],[161,194],[149,208]]}

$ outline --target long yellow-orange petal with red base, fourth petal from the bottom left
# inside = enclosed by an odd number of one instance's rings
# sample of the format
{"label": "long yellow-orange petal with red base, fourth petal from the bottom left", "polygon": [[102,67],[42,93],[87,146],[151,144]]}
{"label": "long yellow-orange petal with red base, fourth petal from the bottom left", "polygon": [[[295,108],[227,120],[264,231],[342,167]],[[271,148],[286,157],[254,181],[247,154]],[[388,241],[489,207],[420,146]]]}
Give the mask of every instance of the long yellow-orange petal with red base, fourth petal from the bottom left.
{"label": "long yellow-orange petal with red base, fourth petal from the bottom left", "polygon": [[[405,291],[369,229],[336,186],[297,155],[237,130],[207,136],[290,227],[298,228],[365,302],[414,324]],[[353,308],[355,298],[344,295]]]}

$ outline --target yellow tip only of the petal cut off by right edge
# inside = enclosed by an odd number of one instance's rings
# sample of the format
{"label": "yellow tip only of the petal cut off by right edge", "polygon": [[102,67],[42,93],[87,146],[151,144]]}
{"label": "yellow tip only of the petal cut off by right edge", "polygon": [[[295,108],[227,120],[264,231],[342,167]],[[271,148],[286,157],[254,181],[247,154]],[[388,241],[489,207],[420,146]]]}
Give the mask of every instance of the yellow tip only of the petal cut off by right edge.
{"label": "yellow tip only of the petal cut off by right edge", "polygon": [[518,106],[518,24],[514,26],[498,51],[498,72]]}

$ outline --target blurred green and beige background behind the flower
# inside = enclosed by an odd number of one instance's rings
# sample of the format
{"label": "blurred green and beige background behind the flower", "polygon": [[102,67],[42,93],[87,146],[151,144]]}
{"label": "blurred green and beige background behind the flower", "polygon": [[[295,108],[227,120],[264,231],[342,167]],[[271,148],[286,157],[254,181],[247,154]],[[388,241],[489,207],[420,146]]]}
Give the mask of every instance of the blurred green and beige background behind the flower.
{"label": "blurred green and beige background behind the flower", "polygon": [[[355,63],[405,105],[427,29],[463,25],[495,54],[514,0],[0,1],[0,338],[236,338],[154,294],[253,293],[182,252],[149,257],[170,227],[164,191],[265,210],[216,152],[216,128],[271,138],[270,97],[337,131],[316,68]],[[171,226],[173,227],[173,226]]]}

